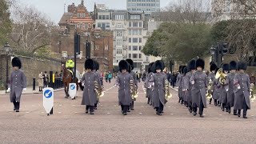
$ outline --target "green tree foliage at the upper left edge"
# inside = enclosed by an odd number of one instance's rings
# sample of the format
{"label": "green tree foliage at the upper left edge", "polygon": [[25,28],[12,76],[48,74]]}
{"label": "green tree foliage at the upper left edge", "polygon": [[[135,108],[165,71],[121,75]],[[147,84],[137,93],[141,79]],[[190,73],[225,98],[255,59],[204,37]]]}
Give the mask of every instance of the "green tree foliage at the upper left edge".
{"label": "green tree foliage at the upper left edge", "polygon": [[0,0],[0,46],[8,42],[8,34],[11,31],[9,8],[9,2]]}

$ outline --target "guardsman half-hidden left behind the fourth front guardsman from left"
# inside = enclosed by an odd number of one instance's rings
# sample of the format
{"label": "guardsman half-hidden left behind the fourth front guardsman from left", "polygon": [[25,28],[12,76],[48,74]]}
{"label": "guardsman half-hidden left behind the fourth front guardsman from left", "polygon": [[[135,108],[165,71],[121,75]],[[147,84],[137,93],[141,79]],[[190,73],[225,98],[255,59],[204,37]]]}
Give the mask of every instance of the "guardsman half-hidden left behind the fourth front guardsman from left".
{"label": "guardsman half-hidden left behind the fourth front guardsman from left", "polygon": [[152,89],[149,87],[150,86],[149,82],[150,82],[151,76],[154,74],[153,65],[154,65],[154,62],[151,62],[147,70],[148,74],[146,75],[146,81],[145,81],[147,104],[150,104],[150,106],[152,105]]}

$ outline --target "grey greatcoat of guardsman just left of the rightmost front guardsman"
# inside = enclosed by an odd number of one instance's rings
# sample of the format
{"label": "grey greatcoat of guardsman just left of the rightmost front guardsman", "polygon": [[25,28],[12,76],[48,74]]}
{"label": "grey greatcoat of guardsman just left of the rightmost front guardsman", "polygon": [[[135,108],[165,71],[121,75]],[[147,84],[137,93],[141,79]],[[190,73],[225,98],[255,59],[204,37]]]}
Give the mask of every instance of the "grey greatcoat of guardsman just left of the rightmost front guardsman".
{"label": "grey greatcoat of guardsman just left of the rightmost front guardsman", "polygon": [[234,76],[235,74],[228,74],[226,77],[226,84],[227,86],[225,87],[226,90],[228,90],[227,92],[227,102],[230,104],[230,107],[234,106]]}

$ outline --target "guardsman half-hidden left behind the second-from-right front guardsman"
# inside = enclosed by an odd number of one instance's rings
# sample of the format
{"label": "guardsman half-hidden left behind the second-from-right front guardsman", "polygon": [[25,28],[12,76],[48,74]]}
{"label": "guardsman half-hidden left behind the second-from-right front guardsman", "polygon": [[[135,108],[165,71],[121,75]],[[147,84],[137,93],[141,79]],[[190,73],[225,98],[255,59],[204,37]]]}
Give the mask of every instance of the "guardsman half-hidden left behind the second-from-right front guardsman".
{"label": "guardsman half-hidden left behind the second-from-right front guardsman", "polygon": [[190,83],[190,78],[192,77],[192,74],[194,74],[196,67],[195,67],[195,60],[192,59],[188,64],[189,72],[186,73],[185,77],[185,94],[187,98],[187,106],[190,110],[190,113],[192,113],[192,96],[191,96],[191,90],[192,90],[192,84]]}

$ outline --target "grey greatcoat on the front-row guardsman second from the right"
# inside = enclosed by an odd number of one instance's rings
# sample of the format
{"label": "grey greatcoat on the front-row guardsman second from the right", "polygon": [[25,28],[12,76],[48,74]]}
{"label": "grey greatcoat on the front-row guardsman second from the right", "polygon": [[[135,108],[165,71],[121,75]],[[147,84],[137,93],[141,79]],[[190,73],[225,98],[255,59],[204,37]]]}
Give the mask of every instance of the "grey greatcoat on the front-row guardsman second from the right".
{"label": "grey greatcoat on the front-row guardsman second from the right", "polygon": [[192,74],[190,82],[191,84],[193,84],[192,82],[194,82],[191,90],[192,106],[199,107],[200,100],[202,99],[203,106],[204,108],[206,108],[206,89],[208,86],[207,75],[202,71],[196,71],[194,74]]}

